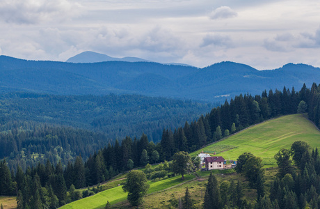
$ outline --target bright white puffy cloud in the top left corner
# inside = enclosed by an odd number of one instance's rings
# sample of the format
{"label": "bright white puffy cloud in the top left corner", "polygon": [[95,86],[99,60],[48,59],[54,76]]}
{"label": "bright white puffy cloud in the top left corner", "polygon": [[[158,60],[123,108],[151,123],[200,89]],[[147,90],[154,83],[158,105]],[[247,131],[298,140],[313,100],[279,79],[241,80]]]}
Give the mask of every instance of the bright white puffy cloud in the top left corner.
{"label": "bright white puffy cloud in the top left corner", "polygon": [[79,15],[79,3],[68,0],[4,0],[0,2],[0,21],[15,24],[61,22]]}

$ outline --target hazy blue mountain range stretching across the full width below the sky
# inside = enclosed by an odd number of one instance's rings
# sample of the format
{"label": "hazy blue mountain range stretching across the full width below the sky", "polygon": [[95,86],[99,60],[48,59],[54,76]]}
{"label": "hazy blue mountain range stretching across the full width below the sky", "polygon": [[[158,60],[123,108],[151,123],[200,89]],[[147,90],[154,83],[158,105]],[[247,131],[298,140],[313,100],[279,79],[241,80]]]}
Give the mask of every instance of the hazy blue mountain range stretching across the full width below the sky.
{"label": "hazy blue mountain range stretching across the full width below the sky", "polygon": [[135,93],[223,102],[225,98],[240,93],[255,95],[271,88],[282,90],[283,86],[290,89],[294,86],[298,90],[303,83],[310,86],[319,80],[319,68],[292,63],[275,70],[256,70],[229,61],[195,68],[147,61],[64,63],[0,56],[1,92],[61,95]]}

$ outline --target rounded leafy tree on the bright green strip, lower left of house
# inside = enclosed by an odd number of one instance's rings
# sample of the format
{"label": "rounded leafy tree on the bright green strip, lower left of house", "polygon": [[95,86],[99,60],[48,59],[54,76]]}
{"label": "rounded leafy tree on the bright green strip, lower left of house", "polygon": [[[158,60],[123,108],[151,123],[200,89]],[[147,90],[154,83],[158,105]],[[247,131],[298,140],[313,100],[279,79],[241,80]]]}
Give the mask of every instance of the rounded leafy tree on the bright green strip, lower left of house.
{"label": "rounded leafy tree on the bright green strip, lower left of house", "polygon": [[128,192],[128,201],[132,206],[139,206],[143,202],[143,196],[147,194],[147,178],[143,171],[129,171],[125,185],[122,186],[123,191]]}

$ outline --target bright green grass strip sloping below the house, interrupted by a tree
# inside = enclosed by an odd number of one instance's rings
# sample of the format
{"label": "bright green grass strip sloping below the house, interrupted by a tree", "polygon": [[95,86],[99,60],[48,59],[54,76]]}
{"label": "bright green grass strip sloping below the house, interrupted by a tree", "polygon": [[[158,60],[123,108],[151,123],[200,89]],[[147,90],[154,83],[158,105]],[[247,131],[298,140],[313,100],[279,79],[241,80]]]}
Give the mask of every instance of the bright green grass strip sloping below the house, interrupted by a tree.
{"label": "bright green grass strip sloping below the house, interrupted by a tree", "polygon": [[[193,175],[184,176],[185,179],[181,180],[181,176],[175,176],[173,178],[165,178],[164,180],[159,181],[148,181],[150,188],[148,190],[148,194],[162,191],[163,189],[167,189],[173,187],[175,185],[179,185],[187,180],[191,180],[195,178]],[[79,201],[74,201],[69,203],[61,208],[102,208],[106,205],[106,201],[109,203],[119,203],[121,201],[125,201],[127,199],[127,193],[122,191],[122,187],[114,187],[112,189],[108,189],[103,192],[99,192],[93,196],[88,196],[86,198],[80,199]]]}

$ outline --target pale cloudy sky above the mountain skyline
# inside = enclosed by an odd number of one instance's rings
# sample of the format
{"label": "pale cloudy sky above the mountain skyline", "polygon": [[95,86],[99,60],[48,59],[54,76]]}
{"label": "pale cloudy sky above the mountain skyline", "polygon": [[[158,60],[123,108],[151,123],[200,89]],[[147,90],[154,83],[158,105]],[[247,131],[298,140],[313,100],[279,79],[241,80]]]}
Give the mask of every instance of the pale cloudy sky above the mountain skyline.
{"label": "pale cloudy sky above the mountain skyline", "polygon": [[81,52],[203,68],[320,67],[319,0],[1,0],[0,54],[66,61]]}

